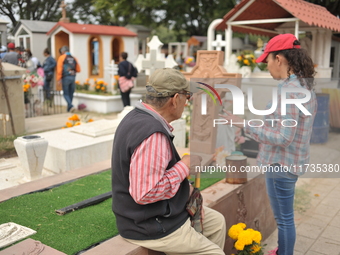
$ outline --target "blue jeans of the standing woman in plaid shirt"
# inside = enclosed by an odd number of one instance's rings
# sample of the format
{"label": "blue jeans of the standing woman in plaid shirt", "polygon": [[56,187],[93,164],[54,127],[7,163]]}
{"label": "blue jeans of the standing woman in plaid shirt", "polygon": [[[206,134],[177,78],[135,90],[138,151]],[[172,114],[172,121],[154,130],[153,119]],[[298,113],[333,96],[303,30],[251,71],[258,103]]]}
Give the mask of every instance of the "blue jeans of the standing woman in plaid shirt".
{"label": "blue jeans of the standing woman in plaid shirt", "polygon": [[294,193],[297,176],[273,164],[266,172],[267,193],[279,231],[279,255],[293,255],[295,245]]}

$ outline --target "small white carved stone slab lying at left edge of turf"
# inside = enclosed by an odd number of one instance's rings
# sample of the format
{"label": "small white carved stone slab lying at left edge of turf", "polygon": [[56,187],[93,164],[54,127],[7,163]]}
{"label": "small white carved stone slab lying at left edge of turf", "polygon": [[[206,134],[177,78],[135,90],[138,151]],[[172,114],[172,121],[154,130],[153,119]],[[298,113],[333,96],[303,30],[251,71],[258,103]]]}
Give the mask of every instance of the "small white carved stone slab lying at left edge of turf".
{"label": "small white carved stone slab lying at left edge of turf", "polygon": [[0,248],[6,247],[12,243],[20,241],[21,239],[34,235],[35,233],[37,233],[37,231],[13,222],[1,224]]}

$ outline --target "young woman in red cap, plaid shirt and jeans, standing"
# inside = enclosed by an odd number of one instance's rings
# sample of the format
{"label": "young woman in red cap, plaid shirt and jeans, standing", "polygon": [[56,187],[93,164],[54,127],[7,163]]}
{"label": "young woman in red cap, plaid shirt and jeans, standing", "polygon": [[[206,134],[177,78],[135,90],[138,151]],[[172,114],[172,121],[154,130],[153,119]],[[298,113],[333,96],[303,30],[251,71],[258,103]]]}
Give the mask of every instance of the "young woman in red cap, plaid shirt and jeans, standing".
{"label": "young woman in red cap, plaid shirt and jeans, standing", "polygon": [[[304,165],[309,162],[309,141],[317,108],[316,95],[313,92],[314,65],[292,34],[272,38],[256,62],[267,63],[271,76],[280,81],[277,109],[266,116],[266,119],[272,121],[265,121],[262,127],[243,127],[241,124],[236,126],[244,128],[246,134],[260,143],[257,162],[258,165],[267,166],[267,193],[278,227],[278,247],[269,254],[292,255],[296,239],[293,207],[295,183],[298,176],[304,173]],[[289,92],[294,89],[300,90]],[[288,92],[284,93],[285,91]],[[297,100],[308,94],[311,95],[310,99],[302,105],[309,114],[302,112],[295,104],[287,104],[284,114],[281,96]],[[271,103],[267,105],[267,109],[270,107]],[[226,114],[223,117],[228,121],[244,121],[229,112]]]}

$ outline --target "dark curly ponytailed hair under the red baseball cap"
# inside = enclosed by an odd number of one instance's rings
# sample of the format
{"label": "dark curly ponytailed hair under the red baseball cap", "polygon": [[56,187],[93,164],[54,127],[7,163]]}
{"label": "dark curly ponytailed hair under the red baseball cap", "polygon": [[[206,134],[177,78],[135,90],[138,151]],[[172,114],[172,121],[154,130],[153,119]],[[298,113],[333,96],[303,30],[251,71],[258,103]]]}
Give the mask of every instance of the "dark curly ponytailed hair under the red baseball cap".
{"label": "dark curly ponytailed hair under the red baseball cap", "polygon": [[[296,40],[294,45],[300,45],[300,42]],[[305,49],[280,50],[271,53],[273,58],[275,58],[276,55],[282,55],[287,59],[288,78],[292,71],[298,77],[302,86],[307,86],[309,90],[312,90],[316,72],[314,70],[313,60]]]}

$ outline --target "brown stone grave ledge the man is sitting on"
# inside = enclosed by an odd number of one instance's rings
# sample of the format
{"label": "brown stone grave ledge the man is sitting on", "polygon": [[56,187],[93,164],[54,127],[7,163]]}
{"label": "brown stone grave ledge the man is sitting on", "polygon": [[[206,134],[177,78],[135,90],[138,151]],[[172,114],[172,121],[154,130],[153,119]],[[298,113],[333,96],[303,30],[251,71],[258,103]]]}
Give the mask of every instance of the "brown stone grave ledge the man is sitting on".
{"label": "brown stone grave ledge the man is sitting on", "polygon": [[[247,227],[259,230],[265,240],[276,229],[276,222],[267,198],[265,179],[258,175],[246,184],[235,185],[224,180],[202,191],[204,205],[221,212],[229,229],[233,224],[245,222]],[[245,219],[245,220],[244,220]],[[224,252],[232,253],[233,240],[226,239]],[[131,244],[121,236],[113,237],[84,252],[84,255],[164,255]]]}

